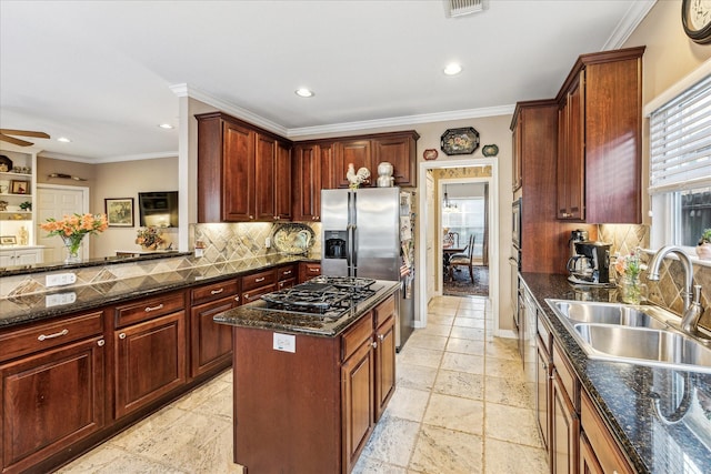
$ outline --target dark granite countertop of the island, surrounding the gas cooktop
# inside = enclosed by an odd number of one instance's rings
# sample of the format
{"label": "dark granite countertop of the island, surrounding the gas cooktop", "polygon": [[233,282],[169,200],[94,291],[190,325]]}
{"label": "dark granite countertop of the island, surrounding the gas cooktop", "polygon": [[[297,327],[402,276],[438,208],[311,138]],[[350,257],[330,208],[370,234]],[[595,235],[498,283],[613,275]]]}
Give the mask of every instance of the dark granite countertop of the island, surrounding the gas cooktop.
{"label": "dark granite countertop of the island, surrounding the gas cooktop", "polygon": [[360,316],[380,304],[400,288],[399,282],[378,280],[371,286],[378,290],[374,295],[360,302],[338,319],[323,319],[318,315],[270,311],[264,303],[256,301],[214,316],[214,321],[238,327],[254,327],[286,333],[306,333],[333,337],[342,333]]}

